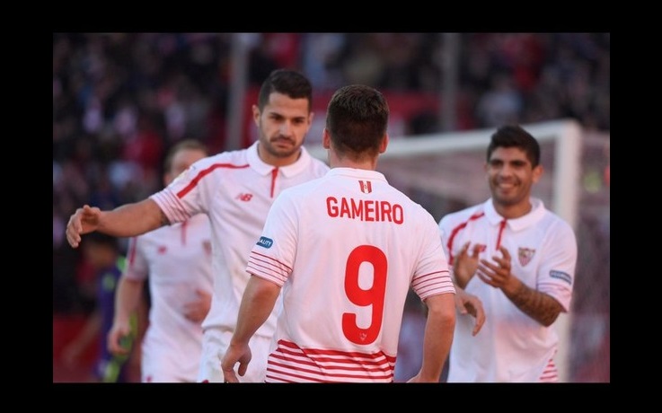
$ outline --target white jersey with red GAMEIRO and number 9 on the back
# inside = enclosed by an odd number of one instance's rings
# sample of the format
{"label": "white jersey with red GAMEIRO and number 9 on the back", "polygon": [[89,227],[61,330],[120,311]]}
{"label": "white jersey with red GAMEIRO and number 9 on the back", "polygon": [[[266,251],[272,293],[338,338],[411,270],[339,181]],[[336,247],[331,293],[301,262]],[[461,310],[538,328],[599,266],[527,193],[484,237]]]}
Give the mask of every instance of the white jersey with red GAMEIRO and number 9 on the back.
{"label": "white jersey with red GAMEIRO and number 9 on the back", "polygon": [[283,286],[267,382],[393,382],[410,286],[455,294],[437,222],[377,171],[284,191],[246,269]]}

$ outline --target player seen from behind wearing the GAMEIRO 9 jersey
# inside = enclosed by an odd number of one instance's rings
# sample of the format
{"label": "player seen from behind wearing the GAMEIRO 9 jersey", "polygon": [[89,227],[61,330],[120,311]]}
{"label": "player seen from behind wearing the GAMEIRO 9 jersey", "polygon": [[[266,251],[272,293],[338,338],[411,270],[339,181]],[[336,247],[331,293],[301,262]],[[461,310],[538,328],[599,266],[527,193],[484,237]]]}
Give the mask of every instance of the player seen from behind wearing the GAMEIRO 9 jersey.
{"label": "player seen from behind wearing the GAMEIRO 9 jersey", "polygon": [[[246,270],[252,274],[225,381],[250,368],[250,338],[282,288],[266,382],[393,382],[410,287],[428,305],[423,362],[411,382],[438,382],[455,326],[455,287],[437,222],[375,171],[388,144],[382,93],[340,88],[322,142],[331,171],[281,192]],[[257,242],[257,243],[256,243]]]}

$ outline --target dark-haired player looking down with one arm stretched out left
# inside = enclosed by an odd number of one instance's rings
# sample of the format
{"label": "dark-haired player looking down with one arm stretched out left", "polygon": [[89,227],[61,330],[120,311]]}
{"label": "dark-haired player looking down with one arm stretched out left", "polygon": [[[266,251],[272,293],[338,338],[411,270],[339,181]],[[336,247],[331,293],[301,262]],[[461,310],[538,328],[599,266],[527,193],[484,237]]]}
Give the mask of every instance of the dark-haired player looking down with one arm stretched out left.
{"label": "dark-haired player looking down with one arm stretched out left", "polygon": [[[249,148],[194,163],[150,198],[113,211],[84,206],[72,215],[67,241],[77,247],[90,231],[132,236],[205,213],[212,228],[214,294],[203,321],[199,382],[223,381],[221,357],[230,343],[252,244],[280,191],[321,177],[329,167],[303,147],[313,122],[312,86],[304,75],[279,69],[262,83],[252,115],[259,141]],[[275,319],[253,337],[255,357],[245,382],[263,382]]]}

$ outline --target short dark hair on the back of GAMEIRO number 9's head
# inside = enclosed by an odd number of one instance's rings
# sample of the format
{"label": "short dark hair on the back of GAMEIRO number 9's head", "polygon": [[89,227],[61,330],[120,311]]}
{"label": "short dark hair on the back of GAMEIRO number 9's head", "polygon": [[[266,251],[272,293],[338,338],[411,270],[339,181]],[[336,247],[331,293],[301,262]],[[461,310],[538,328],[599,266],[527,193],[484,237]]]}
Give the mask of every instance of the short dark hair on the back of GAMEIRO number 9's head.
{"label": "short dark hair on the back of GAMEIRO number 9's head", "polygon": [[388,103],[381,92],[350,84],[333,93],[326,110],[326,129],[340,154],[377,155],[388,117]]}

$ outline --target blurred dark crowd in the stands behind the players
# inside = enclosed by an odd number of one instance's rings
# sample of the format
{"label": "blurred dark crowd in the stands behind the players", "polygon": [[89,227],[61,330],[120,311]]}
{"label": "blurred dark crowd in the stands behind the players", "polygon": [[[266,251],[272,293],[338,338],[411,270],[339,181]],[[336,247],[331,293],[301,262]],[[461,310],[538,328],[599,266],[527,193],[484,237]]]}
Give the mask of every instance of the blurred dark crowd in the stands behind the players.
{"label": "blurred dark crowd in the stands behind the players", "polygon": [[[163,154],[185,137],[225,149],[233,37],[53,34],[54,313],[89,312],[95,300],[93,270],[64,237],[76,207],[108,209],[153,193]],[[438,94],[451,39],[456,130],[573,118],[609,131],[609,33],[252,33],[243,35],[246,80],[256,86],[292,67],[314,93],[365,83]],[[408,136],[440,131],[437,109],[404,128]]]}

